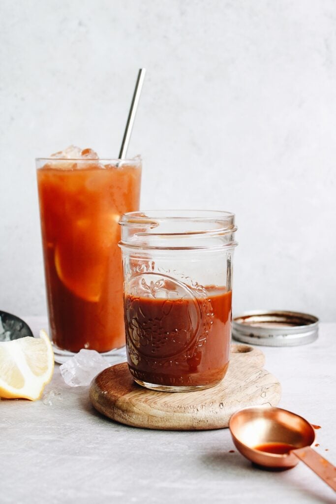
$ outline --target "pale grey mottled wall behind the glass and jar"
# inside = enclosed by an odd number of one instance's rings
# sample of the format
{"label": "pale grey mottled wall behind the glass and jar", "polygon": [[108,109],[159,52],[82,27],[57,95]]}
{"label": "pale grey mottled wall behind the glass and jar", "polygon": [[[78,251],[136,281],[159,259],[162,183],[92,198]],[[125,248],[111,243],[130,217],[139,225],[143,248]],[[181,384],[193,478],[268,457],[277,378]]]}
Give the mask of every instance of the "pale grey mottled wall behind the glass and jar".
{"label": "pale grey mottled wall behind the glass and jar", "polygon": [[237,215],[234,311],[336,321],[336,3],[0,0],[0,308],[46,312],[34,158],[129,155],[141,207]]}

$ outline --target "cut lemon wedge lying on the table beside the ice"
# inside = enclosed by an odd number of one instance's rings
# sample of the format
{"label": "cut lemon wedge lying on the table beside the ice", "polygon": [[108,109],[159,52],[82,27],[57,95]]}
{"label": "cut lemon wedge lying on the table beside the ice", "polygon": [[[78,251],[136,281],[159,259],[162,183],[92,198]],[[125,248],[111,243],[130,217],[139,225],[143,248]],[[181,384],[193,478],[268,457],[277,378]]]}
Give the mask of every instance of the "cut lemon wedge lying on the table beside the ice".
{"label": "cut lemon wedge lying on the table beside the ice", "polygon": [[54,355],[45,331],[39,338],[0,342],[0,397],[39,399],[53,369]]}

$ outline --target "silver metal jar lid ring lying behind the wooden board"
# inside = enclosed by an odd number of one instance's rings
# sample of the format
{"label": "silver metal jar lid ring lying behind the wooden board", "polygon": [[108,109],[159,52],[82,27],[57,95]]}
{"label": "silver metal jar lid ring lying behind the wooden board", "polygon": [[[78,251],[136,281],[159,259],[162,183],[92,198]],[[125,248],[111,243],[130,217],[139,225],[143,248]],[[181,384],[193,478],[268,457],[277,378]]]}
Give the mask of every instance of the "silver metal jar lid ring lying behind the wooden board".
{"label": "silver metal jar lid ring lying behind the wooden board", "polygon": [[252,345],[305,345],[317,336],[318,318],[297,311],[246,311],[232,321],[232,337]]}

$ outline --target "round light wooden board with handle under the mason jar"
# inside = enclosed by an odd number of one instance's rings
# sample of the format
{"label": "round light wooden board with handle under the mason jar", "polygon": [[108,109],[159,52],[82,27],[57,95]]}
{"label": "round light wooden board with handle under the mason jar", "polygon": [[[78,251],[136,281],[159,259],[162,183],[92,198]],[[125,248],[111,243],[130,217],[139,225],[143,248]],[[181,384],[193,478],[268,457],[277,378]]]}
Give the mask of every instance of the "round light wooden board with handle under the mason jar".
{"label": "round light wooden board with handle under the mason jar", "polygon": [[137,385],[126,362],[104,369],[92,381],[90,399],[103,415],[134,427],[206,430],[228,426],[231,415],[245,406],[276,406],[281,386],[262,368],[261,350],[232,345],[224,380],[197,392],[156,392]]}

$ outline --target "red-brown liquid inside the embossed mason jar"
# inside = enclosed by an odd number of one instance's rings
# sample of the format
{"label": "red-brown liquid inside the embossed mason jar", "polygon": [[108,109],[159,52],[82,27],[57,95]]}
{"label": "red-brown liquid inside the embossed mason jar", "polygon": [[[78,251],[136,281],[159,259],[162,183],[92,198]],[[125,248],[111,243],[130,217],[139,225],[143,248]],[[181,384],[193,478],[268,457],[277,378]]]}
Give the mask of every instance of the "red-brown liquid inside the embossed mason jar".
{"label": "red-brown liquid inside the embossed mason jar", "polygon": [[213,386],[223,379],[231,291],[206,290],[189,299],[125,296],[127,360],[136,379],[164,386]]}

